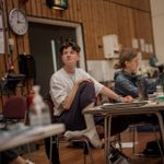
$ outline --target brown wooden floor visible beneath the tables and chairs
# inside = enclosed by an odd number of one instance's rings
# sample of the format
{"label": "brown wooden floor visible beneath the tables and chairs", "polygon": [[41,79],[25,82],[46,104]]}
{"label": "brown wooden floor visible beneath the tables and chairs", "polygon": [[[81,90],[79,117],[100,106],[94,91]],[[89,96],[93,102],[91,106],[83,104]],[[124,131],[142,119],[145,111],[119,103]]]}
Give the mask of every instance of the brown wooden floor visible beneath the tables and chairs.
{"label": "brown wooden floor visible beneath the tables and chairs", "polygon": [[[148,141],[154,140],[154,133],[152,132],[138,132],[136,134],[136,153],[140,153],[145,148]],[[122,142],[132,141],[132,132],[126,131],[121,134]],[[104,162],[104,149],[92,149],[95,164],[103,164]],[[131,159],[131,164],[162,164],[161,157],[139,157],[133,155],[131,148],[125,148],[124,152]],[[60,141],[59,144],[60,162],[61,164],[83,164],[82,149],[74,149],[70,147],[67,141]],[[26,155],[24,155],[26,157]],[[32,161],[35,164],[49,164],[46,155],[44,144],[40,144],[39,150],[32,153]],[[90,159],[87,159],[90,164]]]}

